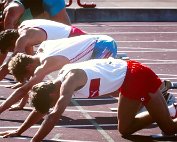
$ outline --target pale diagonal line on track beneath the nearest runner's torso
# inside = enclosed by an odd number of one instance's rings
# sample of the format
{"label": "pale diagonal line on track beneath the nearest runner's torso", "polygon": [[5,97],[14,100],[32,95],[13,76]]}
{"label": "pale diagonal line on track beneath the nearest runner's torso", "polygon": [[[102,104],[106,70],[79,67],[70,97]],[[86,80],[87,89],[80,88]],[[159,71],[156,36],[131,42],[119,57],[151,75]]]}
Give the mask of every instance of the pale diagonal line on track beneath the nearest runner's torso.
{"label": "pale diagonal line on track beneath the nearest runner's torso", "polygon": [[100,125],[96,121],[94,121],[93,118],[87,112],[85,112],[85,110],[75,100],[72,99],[71,102],[75,105],[75,107],[78,108],[78,110],[80,110],[80,112],[83,114],[83,116],[86,119],[88,119],[88,121],[90,121],[91,124],[94,125],[94,127],[105,138],[106,141],[108,141],[108,142],[114,142],[114,140],[106,133],[106,131],[104,131],[100,127]]}

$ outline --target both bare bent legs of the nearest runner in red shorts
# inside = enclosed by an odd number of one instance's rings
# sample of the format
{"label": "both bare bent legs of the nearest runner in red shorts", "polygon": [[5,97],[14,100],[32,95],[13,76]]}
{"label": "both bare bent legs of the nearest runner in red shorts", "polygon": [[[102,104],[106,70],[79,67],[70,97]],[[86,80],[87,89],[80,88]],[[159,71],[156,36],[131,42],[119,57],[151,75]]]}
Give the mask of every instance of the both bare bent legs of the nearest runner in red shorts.
{"label": "both bare bent legs of the nearest runner in red shorts", "polygon": [[177,119],[171,119],[167,104],[161,92],[158,90],[156,93],[150,94],[150,97],[151,99],[146,105],[149,113],[146,111],[136,115],[141,106],[141,102],[120,95],[118,104],[118,129],[122,135],[132,134],[153,122],[157,122],[166,134],[177,133]]}

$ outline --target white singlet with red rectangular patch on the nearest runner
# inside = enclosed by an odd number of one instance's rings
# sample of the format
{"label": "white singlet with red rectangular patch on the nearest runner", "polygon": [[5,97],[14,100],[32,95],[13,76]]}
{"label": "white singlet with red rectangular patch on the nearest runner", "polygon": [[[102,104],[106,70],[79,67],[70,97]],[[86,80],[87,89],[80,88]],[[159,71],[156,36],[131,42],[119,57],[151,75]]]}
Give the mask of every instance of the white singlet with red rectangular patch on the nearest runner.
{"label": "white singlet with red rectangular patch on the nearest runner", "polygon": [[75,91],[74,95],[92,98],[117,91],[121,87],[127,72],[127,62],[110,57],[67,64],[59,72],[60,80],[63,81],[65,75],[72,69],[84,70],[88,78],[85,86]]}

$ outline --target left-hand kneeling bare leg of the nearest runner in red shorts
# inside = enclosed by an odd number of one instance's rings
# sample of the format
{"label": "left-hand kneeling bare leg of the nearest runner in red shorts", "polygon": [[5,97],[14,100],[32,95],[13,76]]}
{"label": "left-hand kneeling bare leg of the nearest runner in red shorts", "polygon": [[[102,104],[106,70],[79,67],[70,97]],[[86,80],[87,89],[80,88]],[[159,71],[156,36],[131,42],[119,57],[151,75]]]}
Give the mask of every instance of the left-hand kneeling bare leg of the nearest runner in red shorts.
{"label": "left-hand kneeling bare leg of the nearest runner in red shorts", "polygon": [[147,111],[136,115],[141,106],[142,103],[140,101],[129,99],[120,94],[118,102],[118,130],[122,135],[132,134],[153,122]]}

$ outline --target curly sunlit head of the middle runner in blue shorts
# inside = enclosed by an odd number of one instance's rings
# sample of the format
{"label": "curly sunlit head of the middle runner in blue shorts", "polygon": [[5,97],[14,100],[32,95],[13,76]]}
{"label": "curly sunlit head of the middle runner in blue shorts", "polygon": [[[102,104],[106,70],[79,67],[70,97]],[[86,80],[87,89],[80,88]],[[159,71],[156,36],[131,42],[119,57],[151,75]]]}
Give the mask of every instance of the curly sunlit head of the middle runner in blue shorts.
{"label": "curly sunlit head of the middle runner in blue shorts", "polygon": [[24,82],[34,73],[34,69],[30,67],[33,62],[31,55],[17,53],[8,63],[8,70],[17,81]]}

